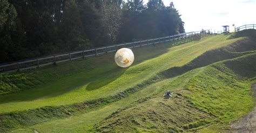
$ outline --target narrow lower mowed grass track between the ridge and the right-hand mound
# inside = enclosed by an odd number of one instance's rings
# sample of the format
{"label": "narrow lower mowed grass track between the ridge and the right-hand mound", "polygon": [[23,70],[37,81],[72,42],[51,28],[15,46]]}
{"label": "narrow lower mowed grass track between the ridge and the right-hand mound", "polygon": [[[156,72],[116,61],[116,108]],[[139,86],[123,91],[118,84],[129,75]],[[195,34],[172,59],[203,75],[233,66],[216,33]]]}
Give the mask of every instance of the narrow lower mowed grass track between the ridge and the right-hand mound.
{"label": "narrow lower mowed grass track between the ridge and the right-hand mound", "polygon": [[172,84],[173,86],[170,89],[171,91],[182,89],[188,80],[196,76],[201,70],[203,69],[199,68],[192,72],[185,73],[183,76],[166,79],[162,82],[152,84],[139,92],[129,95],[127,98],[113,102],[106,107],[94,110],[89,113],[85,113],[79,116],[71,116],[62,120],[37,124],[29,128],[17,129],[13,132],[33,132],[34,130],[38,132],[89,132],[93,128],[93,125],[104,120],[105,117],[111,115],[113,112],[116,112],[120,108],[125,108],[127,106],[129,107],[129,105],[133,102],[136,103],[139,99],[151,97],[154,94],[159,94],[159,92],[162,94],[166,88],[166,84],[170,84],[172,82],[176,83]]}

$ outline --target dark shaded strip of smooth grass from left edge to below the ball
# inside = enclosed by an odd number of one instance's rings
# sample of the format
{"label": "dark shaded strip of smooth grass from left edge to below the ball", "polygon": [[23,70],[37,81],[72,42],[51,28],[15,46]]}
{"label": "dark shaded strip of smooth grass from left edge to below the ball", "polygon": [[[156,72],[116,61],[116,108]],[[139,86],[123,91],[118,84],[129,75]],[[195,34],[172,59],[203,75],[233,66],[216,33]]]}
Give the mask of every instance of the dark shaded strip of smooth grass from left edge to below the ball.
{"label": "dark shaded strip of smooth grass from left edge to below the ball", "polygon": [[110,71],[102,73],[102,75],[96,75],[90,79],[86,78],[86,73],[78,73],[76,75],[72,75],[71,77],[60,79],[52,84],[38,87],[35,89],[0,95],[0,104],[5,104],[8,102],[32,101],[40,98],[57,97],[58,95],[69,93],[85,85],[87,85],[86,90],[88,91],[96,90],[97,88],[113,82],[114,80],[122,76],[125,71],[126,69],[115,67],[112,68],[112,70]]}

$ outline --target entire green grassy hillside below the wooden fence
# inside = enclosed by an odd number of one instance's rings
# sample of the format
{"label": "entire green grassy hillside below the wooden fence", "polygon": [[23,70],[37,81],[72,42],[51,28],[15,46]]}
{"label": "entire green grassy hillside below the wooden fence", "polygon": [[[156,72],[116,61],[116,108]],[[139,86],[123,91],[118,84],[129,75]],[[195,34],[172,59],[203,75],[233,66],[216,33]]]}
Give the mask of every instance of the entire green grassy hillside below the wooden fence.
{"label": "entire green grassy hillside below the wooden fence", "polygon": [[0,131],[227,129],[253,108],[255,50],[251,38],[221,34],[133,49],[126,69],[109,54],[1,73]]}

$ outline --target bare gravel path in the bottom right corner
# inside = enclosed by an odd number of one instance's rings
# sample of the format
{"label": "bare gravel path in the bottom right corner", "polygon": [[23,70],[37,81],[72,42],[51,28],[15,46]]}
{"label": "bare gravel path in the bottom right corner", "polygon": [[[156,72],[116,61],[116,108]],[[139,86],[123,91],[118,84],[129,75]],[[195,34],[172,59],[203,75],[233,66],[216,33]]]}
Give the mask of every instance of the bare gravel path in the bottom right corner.
{"label": "bare gravel path in the bottom right corner", "polygon": [[[253,97],[256,98],[256,83],[252,85]],[[253,111],[231,124],[233,132],[256,132],[256,106]]]}

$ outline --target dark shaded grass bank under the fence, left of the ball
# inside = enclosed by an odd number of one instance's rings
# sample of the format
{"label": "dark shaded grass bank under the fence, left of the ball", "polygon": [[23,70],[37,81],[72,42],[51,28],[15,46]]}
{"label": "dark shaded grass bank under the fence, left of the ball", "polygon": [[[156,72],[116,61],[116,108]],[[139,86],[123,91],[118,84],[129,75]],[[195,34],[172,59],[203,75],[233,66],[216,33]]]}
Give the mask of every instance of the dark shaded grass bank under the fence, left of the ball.
{"label": "dark shaded grass bank under the fence, left of the ball", "polygon": [[[54,67],[44,67],[36,70],[28,70],[15,73],[0,73],[0,94],[8,94],[22,90],[29,90],[42,85],[55,82],[58,79],[69,77],[81,71],[88,71],[87,79],[92,78],[90,73],[100,73],[113,68],[110,64],[111,58],[98,58],[99,62],[94,62],[92,58],[88,60],[73,61],[72,63],[57,64]],[[105,69],[98,68],[98,65],[105,65]]]}

